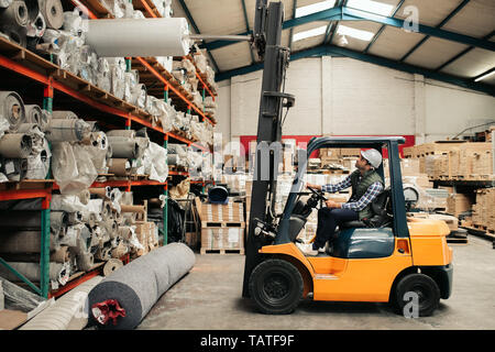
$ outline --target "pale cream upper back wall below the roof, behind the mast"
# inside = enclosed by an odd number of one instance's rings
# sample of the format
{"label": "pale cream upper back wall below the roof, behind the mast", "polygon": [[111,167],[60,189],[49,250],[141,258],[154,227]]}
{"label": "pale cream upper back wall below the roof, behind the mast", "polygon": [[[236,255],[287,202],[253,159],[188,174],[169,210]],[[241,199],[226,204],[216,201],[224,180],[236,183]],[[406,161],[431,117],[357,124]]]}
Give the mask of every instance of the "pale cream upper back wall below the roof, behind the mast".
{"label": "pale cream upper back wall below the roof, behind the mast", "polygon": [[[255,72],[221,84],[224,141],[256,134],[261,82]],[[292,62],[286,91],[296,95],[296,106],[285,135],[411,134],[421,143],[495,120],[492,97],[343,57]]]}

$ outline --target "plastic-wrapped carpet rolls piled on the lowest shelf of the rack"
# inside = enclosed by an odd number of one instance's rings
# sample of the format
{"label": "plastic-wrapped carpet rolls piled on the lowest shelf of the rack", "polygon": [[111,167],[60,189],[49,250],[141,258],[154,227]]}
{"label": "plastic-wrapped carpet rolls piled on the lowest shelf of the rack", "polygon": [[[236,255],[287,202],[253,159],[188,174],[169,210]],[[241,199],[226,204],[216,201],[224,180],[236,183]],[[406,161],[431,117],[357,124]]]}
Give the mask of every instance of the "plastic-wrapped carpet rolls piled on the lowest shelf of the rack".
{"label": "plastic-wrapped carpet rolls piled on the lowest shelf of the rack", "polygon": [[[19,206],[16,209],[20,209]],[[64,286],[78,272],[108,262],[106,270],[120,267],[128,253],[143,251],[136,228],[146,220],[146,206],[133,205],[131,191],[89,188],[79,195],[53,195],[50,213],[51,288]],[[0,212],[0,257],[33,282],[40,280],[42,216],[40,210]],[[155,235],[155,234],[154,234]],[[156,241],[154,241],[156,242]],[[0,276],[18,280],[0,266]]]}

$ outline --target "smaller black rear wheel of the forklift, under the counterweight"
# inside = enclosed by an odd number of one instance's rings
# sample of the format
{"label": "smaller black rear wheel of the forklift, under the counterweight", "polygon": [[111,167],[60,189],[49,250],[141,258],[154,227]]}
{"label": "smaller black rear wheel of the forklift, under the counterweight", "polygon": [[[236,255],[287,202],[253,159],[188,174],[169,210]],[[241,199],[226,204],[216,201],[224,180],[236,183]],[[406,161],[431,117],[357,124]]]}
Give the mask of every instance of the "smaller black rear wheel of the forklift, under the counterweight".
{"label": "smaller black rear wheel of the forklift, under the counterweight", "polygon": [[[406,294],[408,294],[408,297]],[[425,274],[409,274],[403,277],[395,289],[393,306],[397,314],[405,315],[406,305],[414,302],[410,293],[416,294],[418,298],[417,312],[419,317],[429,317],[437,309],[440,302],[440,289],[437,283]],[[406,308],[409,312],[414,311],[413,306]]]}

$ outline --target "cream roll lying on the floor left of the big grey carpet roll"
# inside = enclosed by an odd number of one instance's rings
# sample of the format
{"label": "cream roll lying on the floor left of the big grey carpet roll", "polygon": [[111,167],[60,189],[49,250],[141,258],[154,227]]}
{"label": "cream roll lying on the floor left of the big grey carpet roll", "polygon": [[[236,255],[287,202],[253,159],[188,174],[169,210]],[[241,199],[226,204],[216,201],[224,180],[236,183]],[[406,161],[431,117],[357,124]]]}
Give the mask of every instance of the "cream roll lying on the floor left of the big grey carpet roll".
{"label": "cream roll lying on the floor left of the big grey carpet roll", "polygon": [[82,330],[88,323],[88,293],[102,279],[102,276],[96,276],[73,288],[20,330]]}

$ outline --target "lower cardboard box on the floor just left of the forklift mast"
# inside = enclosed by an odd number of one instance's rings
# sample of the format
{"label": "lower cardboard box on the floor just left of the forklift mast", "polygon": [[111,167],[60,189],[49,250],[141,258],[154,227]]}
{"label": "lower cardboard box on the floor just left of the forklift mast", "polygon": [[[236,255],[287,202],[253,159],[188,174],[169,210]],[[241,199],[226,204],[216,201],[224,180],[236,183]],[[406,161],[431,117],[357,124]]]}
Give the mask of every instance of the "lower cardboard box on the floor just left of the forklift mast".
{"label": "lower cardboard box on the floor just left of the forklift mast", "polygon": [[204,228],[201,229],[201,249],[244,249],[244,228]]}

